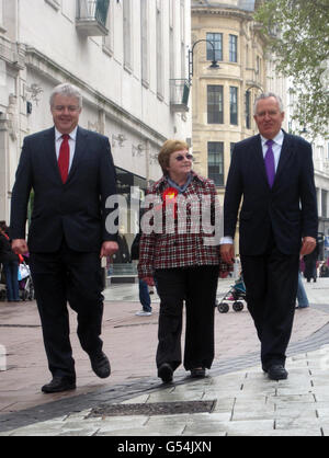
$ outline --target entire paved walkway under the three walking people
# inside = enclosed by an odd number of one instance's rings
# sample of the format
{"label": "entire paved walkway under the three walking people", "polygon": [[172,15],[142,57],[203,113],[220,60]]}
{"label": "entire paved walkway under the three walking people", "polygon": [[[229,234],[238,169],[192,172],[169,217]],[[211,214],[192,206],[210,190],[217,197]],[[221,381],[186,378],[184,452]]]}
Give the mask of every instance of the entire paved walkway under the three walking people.
{"label": "entire paved walkway under the three walking people", "polygon": [[[231,283],[220,280],[218,296]],[[137,285],[121,285],[105,291],[112,376],[100,380],[91,371],[71,313],[78,389],[49,397],[39,392],[49,375],[35,305],[2,302],[0,435],[329,435],[329,278],[306,288],[311,307],[296,311],[287,380],[270,381],[261,371],[245,309],[216,312],[216,360],[205,379],[192,380],[180,368],[174,382],[162,386],[155,368],[158,300],[151,317],[135,317]]]}

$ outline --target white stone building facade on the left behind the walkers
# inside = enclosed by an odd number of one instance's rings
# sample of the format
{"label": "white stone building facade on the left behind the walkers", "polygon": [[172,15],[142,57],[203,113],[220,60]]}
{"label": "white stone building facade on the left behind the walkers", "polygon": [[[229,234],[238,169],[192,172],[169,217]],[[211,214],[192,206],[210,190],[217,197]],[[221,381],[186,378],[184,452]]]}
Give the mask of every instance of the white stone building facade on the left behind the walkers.
{"label": "white stone building facade on the left behind the walkers", "polygon": [[64,81],[82,91],[81,126],[109,136],[120,193],[159,179],[163,141],[192,136],[190,18],[190,0],[0,0],[0,219],[23,138],[53,125]]}

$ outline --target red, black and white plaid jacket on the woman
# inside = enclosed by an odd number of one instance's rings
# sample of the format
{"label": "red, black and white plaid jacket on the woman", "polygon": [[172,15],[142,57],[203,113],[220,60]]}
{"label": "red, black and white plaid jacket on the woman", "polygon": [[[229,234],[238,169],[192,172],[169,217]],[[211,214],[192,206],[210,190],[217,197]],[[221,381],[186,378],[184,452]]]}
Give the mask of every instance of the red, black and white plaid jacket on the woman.
{"label": "red, black and white plaid jacket on the woman", "polygon": [[[178,201],[181,198],[179,202],[185,202],[185,206],[179,204],[174,211],[172,206],[167,206],[171,218],[167,217],[162,197],[170,187],[166,176],[149,188],[146,199],[151,197],[156,202],[141,218],[139,278],[151,277],[159,268],[219,265],[220,273],[231,270],[220,260],[218,243],[223,233],[217,233],[214,239],[215,211],[219,211],[216,187],[213,181],[194,172],[192,174],[186,191],[178,196]],[[145,222],[154,229],[146,230]]]}

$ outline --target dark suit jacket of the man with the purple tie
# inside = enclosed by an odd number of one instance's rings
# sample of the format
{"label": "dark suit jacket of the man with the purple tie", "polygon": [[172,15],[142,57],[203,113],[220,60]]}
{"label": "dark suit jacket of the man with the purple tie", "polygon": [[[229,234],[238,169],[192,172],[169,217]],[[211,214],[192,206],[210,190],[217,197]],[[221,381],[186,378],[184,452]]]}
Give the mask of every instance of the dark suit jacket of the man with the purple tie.
{"label": "dark suit jacket of the man with the purple tie", "polygon": [[317,238],[318,216],[311,146],[284,133],[272,190],[260,135],[235,146],[224,204],[224,234],[235,237],[240,210],[240,254],[264,253],[271,230],[284,254],[297,253],[302,237]]}

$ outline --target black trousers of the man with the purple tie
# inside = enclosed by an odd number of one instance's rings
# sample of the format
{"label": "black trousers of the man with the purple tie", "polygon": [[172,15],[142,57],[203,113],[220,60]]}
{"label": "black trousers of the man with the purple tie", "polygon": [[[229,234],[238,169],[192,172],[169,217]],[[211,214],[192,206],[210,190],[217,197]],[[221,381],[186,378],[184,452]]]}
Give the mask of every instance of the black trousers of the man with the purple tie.
{"label": "black trousers of the man with the purple tie", "polygon": [[284,365],[295,314],[299,254],[281,253],[272,238],[264,254],[241,255],[241,265],[262,366],[266,370],[273,364]]}

